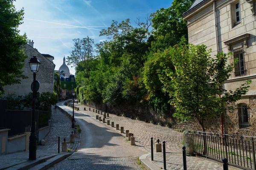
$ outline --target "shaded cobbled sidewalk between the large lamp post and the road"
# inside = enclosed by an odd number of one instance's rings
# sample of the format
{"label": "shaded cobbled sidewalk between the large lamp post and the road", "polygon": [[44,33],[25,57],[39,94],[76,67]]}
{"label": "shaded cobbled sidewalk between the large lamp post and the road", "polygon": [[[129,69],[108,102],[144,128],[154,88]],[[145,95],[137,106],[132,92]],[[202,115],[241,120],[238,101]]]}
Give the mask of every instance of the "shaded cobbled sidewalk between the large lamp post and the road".
{"label": "shaded cobbled sidewalk between the large lamp post and the road", "polygon": [[76,138],[75,143],[70,143],[70,134],[74,129],[71,128],[71,120],[67,116],[57,109],[57,112],[52,113],[52,125],[50,132],[44,138],[45,145],[38,145],[38,150],[46,150],[52,153],[58,153],[58,136],[60,136],[60,150],[64,138],[68,143],[67,148],[71,151],[75,151],[80,145],[80,133]]}

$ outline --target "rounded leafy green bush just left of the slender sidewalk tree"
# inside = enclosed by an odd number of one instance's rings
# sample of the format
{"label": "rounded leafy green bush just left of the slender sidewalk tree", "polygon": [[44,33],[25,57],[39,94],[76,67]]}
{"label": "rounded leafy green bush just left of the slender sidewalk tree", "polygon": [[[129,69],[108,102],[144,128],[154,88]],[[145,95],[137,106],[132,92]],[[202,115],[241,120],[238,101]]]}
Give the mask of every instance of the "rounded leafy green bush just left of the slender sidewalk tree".
{"label": "rounded leafy green bush just left of the slender sidewalk tree", "polygon": [[143,70],[143,82],[148,90],[149,105],[162,116],[166,116],[171,108],[169,105],[170,96],[172,96],[170,92],[173,93],[172,79],[166,75],[168,69],[175,72],[170,49],[150,54]]}

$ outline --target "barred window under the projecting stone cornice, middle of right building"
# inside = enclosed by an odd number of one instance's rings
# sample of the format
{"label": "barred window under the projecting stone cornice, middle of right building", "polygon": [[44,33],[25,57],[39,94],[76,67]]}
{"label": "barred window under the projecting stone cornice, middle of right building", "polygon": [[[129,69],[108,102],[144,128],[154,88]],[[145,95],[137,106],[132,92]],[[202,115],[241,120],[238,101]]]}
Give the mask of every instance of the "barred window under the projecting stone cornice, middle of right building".
{"label": "barred window under the projecting stone cornice, middle of right building", "polygon": [[239,50],[234,52],[234,59],[238,59],[235,68],[236,76],[246,75],[245,62],[244,62],[244,51]]}

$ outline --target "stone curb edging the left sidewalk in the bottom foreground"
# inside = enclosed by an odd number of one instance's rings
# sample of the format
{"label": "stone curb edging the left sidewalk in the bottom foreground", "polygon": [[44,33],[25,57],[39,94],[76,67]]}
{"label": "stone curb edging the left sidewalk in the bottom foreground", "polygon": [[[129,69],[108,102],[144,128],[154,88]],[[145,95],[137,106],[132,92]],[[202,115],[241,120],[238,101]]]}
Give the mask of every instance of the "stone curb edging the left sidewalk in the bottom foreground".
{"label": "stone curb edging the left sidewalk in the bottom foreground", "polygon": [[57,155],[42,164],[38,164],[35,167],[32,167],[29,170],[47,170],[50,167],[52,167],[53,165],[59,163],[60,161],[63,161],[64,159],[66,159],[67,157],[69,157],[72,154],[73,153],[64,153],[64,154]]}

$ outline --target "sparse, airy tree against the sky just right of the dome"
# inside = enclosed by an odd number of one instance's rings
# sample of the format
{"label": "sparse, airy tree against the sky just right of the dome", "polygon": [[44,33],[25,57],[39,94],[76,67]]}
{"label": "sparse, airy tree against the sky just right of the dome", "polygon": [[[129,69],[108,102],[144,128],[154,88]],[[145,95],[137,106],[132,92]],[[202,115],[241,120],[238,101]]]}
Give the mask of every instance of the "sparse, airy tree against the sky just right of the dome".
{"label": "sparse, airy tree against the sky just right of the dome", "polygon": [[83,71],[86,78],[90,77],[90,71],[93,67],[93,55],[94,51],[94,41],[87,38],[82,40],[74,39],[74,47],[70,53],[70,56],[67,57],[67,64],[76,67],[76,71]]}

